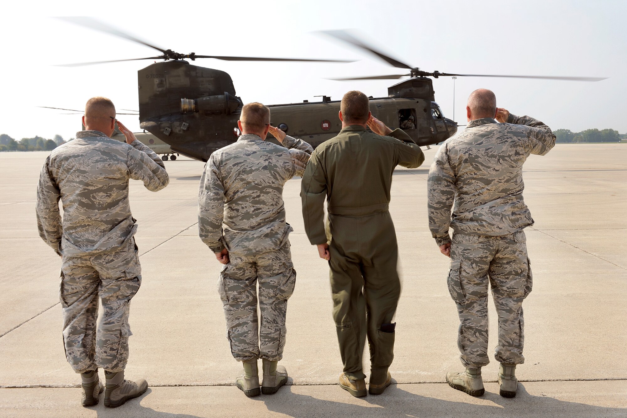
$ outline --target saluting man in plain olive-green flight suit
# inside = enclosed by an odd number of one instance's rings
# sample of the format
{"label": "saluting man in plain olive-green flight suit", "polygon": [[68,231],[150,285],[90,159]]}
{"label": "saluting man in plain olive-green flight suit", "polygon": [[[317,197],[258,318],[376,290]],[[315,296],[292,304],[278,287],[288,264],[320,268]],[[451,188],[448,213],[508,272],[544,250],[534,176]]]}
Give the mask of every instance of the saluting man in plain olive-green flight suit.
{"label": "saluting man in plain olive-green flight suit", "polygon": [[401,284],[396,233],[387,210],[390,186],[398,164],[418,167],[424,154],[401,129],[392,131],[374,119],[362,92],[344,95],[339,117],[342,130],[312,154],[300,196],[307,237],[320,257],[329,260],[333,318],[344,363],[340,387],[361,397],[366,395],[366,336],[369,392],[382,394],[392,382],[387,369],[394,358],[392,321]]}

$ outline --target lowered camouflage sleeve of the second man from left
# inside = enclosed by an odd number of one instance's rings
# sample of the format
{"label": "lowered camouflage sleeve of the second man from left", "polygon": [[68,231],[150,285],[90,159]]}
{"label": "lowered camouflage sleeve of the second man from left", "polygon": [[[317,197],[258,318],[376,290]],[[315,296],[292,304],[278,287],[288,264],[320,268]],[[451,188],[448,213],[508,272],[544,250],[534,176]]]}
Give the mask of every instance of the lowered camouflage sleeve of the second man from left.
{"label": "lowered camouflage sleeve of the second man from left", "polygon": [[204,166],[198,192],[198,235],[213,251],[221,252],[222,222],[224,220],[224,185],[215,157]]}

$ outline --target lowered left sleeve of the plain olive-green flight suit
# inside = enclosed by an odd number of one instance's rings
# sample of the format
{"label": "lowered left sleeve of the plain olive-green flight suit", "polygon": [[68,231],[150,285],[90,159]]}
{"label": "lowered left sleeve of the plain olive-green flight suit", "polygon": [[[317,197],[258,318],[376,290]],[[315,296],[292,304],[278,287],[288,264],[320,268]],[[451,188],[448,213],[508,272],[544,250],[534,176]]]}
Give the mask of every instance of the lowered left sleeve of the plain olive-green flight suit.
{"label": "lowered left sleeve of the plain olive-green flight suit", "polygon": [[324,172],[324,156],[317,151],[311,156],[303,180],[300,183],[305,233],[313,245],[325,244],[324,200],[327,196],[327,176]]}

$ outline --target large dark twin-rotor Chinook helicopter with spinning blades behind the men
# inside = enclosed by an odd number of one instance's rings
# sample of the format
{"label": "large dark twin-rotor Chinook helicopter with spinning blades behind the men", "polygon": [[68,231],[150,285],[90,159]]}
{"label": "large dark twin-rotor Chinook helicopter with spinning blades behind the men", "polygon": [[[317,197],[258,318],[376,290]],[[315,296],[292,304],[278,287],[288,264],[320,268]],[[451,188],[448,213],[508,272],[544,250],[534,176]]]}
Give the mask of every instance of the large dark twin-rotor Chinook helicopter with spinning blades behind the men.
{"label": "large dark twin-rotor Chinook helicopter with spinning blades behind the men", "polygon": [[[155,62],[137,72],[139,84],[140,127],[169,144],[172,151],[200,161],[207,161],[216,149],[236,141],[240,132],[237,121],[240,118],[243,101],[236,95],[233,80],[228,73],[213,68],[191,65],[186,60],[215,58],[232,61],[312,61],[293,58],[246,58],[240,56],[187,55],[164,50],[145,41],[134,38],[118,29],[89,18],[63,18],[66,21],[120,36],[141,45],[161,51],[162,55],[131,60],[163,60]],[[374,53],[394,67],[408,69],[401,75],[380,75],[374,77],[341,78],[337,80],[407,80],[396,83],[387,89],[386,97],[371,97],[372,114],[391,128],[401,127],[419,146],[428,146],[445,141],[455,134],[458,125],[443,116],[435,102],[433,81],[429,77],[470,76],[470,77],[514,77],[548,78],[552,80],[598,81],[596,77],[542,77],[525,75],[473,75],[424,72],[411,67],[358,40],[345,31],[327,31],[325,34],[350,43],[362,50]],[[71,64],[68,66],[94,63]],[[335,61],[337,62],[337,61]],[[337,135],[342,125],[337,117],[340,100],[330,100],[322,96],[320,102],[270,105],[271,124],[290,136],[298,137],[316,147]]]}

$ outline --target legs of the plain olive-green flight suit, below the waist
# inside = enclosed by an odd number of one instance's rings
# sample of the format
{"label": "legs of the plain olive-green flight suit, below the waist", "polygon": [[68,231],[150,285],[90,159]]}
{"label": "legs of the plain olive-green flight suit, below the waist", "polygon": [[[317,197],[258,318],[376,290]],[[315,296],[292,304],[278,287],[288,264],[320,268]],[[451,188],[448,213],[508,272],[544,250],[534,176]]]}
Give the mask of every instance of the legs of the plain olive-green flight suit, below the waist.
{"label": "legs of the plain olive-green flight suit, below the waist", "polygon": [[362,370],[366,336],[371,373],[384,373],[394,359],[391,322],[401,294],[392,218],[389,212],[329,215],[328,228],[333,318],[344,373],[354,380],[366,377]]}

